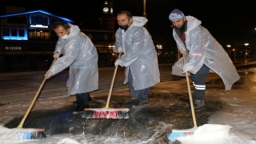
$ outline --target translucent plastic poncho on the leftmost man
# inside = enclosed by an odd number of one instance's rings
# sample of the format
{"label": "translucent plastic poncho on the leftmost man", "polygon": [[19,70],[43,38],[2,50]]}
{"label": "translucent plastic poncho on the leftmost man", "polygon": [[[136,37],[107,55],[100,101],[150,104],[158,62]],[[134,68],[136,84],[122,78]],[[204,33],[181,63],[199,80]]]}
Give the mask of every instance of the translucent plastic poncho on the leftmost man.
{"label": "translucent plastic poncho on the leftmost man", "polygon": [[67,39],[58,38],[54,53],[63,56],[57,59],[50,70],[58,74],[70,66],[70,77],[66,82],[70,95],[98,90],[97,50],[78,26],[70,25],[70,29]]}

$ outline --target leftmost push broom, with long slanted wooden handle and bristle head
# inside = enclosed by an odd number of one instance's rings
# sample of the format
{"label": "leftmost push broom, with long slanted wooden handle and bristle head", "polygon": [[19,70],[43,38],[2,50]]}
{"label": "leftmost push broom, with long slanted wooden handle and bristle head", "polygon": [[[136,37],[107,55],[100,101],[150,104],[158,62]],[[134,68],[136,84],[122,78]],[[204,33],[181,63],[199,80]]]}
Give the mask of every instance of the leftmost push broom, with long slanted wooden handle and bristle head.
{"label": "leftmost push broom, with long slanted wooden handle and bristle head", "polygon": [[[56,61],[56,58],[54,59],[54,62]],[[51,66],[54,65],[54,62],[52,62]],[[22,122],[19,123],[17,128],[11,129],[11,133],[18,139],[42,139],[46,138],[45,130],[42,128],[22,128],[23,124],[26,120],[26,117],[30,113],[30,110],[34,106],[34,102],[38,98],[38,94],[42,90],[42,86],[46,82],[46,77],[43,79],[41,86],[38,89],[38,92],[35,94],[33,101],[30,104],[30,107],[28,110],[26,110],[26,114],[22,118]]]}

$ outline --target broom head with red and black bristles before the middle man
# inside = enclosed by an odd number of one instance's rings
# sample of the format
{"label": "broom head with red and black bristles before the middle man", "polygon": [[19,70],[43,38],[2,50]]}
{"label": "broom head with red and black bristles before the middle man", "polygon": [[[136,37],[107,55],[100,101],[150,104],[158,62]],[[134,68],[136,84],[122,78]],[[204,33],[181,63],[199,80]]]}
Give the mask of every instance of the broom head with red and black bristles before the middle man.
{"label": "broom head with red and black bristles before the middle man", "polygon": [[85,113],[82,114],[82,118],[107,118],[107,119],[109,119],[109,118],[114,118],[114,119],[129,118],[128,111],[129,111],[129,109],[127,109],[127,108],[85,109]]}

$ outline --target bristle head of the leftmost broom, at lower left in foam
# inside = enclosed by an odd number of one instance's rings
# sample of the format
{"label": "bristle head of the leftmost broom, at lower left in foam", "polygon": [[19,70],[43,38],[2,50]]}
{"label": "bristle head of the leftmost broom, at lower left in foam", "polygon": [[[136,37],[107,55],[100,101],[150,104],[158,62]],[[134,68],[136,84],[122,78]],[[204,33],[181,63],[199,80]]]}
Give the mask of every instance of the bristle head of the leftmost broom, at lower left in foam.
{"label": "bristle head of the leftmost broom, at lower left in foam", "polygon": [[11,133],[18,139],[42,139],[46,138],[44,129],[14,128]]}

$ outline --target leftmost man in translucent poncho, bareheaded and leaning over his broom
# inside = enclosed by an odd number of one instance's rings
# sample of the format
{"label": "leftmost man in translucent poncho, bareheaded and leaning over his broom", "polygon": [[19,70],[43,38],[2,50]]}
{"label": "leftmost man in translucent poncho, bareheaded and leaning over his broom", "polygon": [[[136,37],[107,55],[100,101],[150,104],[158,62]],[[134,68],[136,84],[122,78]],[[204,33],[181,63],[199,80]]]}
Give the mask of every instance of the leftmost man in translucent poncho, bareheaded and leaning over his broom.
{"label": "leftmost man in translucent poncho, bareheaded and leaning over his broom", "polygon": [[[75,94],[77,107],[74,113],[88,108],[90,91],[98,90],[98,53],[90,38],[78,26],[66,22],[54,22],[58,42],[54,50],[54,66],[46,73],[46,78],[58,74],[70,66],[70,78],[66,82],[68,93]],[[63,54],[59,58],[59,55]]]}

